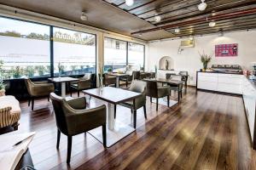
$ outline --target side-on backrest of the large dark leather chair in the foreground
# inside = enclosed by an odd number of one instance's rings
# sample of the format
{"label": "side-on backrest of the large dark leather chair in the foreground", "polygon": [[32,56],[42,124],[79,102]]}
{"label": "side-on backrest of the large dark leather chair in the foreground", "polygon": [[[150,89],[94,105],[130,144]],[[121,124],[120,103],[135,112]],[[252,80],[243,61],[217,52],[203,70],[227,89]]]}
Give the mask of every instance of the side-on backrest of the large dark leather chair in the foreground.
{"label": "side-on backrest of the large dark leather chair in the foreground", "polygon": [[63,105],[65,101],[63,98],[56,95],[55,93],[50,93],[49,96],[55,111],[56,125],[61,133],[67,134],[67,122],[65,112],[63,110]]}

